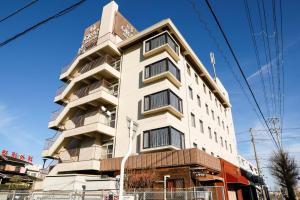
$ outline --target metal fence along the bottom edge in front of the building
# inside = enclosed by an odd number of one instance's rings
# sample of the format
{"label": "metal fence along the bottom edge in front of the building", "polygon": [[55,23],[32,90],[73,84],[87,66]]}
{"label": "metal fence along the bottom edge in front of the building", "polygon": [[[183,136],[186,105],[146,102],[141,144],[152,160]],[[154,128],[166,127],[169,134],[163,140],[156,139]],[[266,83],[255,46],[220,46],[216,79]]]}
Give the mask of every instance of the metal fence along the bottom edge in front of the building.
{"label": "metal fence along the bottom edge in front of the building", "polygon": [[[204,186],[125,192],[124,200],[224,200],[223,187]],[[0,191],[0,200],[119,200],[117,190],[100,191]]]}

